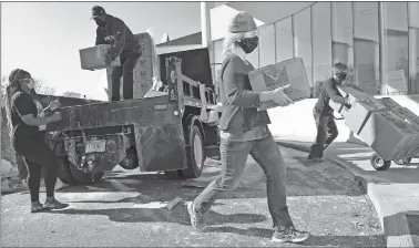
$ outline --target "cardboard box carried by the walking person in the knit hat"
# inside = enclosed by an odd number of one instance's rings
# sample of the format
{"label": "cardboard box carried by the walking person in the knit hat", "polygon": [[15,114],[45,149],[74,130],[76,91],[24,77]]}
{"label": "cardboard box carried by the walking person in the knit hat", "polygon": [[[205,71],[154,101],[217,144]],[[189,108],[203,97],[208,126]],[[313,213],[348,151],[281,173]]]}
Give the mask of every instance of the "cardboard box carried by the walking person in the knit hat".
{"label": "cardboard box carried by the walking person in the knit hat", "polygon": [[[311,94],[308,78],[300,58],[294,58],[276,64],[270,64],[248,73],[252,90],[263,92],[275,90],[289,84],[284,90],[294,102],[308,99]],[[278,106],[274,102],[265,102],[258,110]]]}

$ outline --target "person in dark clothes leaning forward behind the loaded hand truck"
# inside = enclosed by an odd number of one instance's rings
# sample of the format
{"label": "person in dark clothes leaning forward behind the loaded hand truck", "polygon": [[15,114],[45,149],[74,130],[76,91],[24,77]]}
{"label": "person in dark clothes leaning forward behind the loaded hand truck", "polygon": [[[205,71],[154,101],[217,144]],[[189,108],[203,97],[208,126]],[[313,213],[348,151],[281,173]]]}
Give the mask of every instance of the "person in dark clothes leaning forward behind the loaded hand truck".
{"label": "person in dark clothes leaning forward behind the loaded hand truck", "polygon": [[350,105],[349,97],[344,97],[339,93],[337,85],[341,84],[348,73],[348,69],[343,63],[336,63],[333,69],[333,76],[324,82],[313,115],[317,126],[317,136],[310,147],[308,161],[323,162],[323,152],[338,136],[338,130],[334,120],[334,110],[329,106],[329,101]]}

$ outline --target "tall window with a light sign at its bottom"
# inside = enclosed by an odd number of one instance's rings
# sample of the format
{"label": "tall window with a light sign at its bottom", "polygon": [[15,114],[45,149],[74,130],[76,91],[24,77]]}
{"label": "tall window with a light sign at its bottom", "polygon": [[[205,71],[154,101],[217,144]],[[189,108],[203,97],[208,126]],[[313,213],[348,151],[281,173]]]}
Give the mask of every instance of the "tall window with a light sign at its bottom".
{"label": "tall window with a light sign at its bottom", "polygon": [[407,2],[382,2],[384,94],[407,94],[409,79],[409,28]]}

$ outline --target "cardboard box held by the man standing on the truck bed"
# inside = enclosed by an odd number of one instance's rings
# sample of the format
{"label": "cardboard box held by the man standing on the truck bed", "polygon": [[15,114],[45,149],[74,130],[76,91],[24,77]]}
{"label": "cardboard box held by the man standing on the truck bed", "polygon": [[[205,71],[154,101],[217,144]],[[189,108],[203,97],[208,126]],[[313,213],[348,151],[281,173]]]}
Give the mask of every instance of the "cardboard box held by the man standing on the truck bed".
{"label": "cardboard box held by the man standing on the truck bed", "polygon": [[[105,59],[106,59],[106,54],[110,48],[111,48],[110,44],[100,44],[92,48],[81,49],[80,50],[81,68],[83,70],[108,68],[105,64]],[[110,64],[110,66],[120,66],[120,65],[121,65],[120,56],[116,56],[115,60],[112,61],[112,63]]]}

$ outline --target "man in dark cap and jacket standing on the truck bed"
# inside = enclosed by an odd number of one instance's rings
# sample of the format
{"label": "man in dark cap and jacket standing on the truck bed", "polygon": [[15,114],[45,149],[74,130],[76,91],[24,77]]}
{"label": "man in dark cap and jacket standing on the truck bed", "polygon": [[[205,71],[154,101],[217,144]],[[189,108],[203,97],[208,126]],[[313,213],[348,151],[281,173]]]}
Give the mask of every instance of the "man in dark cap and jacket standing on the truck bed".
{"label": "man in dark cap and jacket standing on the truck bed", "polygon": [[120,56],[121,66],[112,69],[112,97],[111,101],[120,101],[120,80],[123,78],[124,100],[133,99],[134,76],[133,70],[141,56],[141,43],[134,37],[126,24],[119,18],[108,14],[100,6],[92,8],[92,19],[96,22],[96,43],[112,44],[106,56],[106,64]]}

